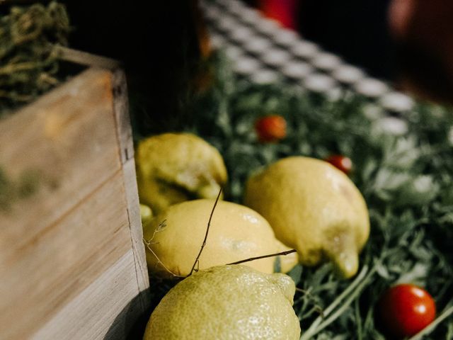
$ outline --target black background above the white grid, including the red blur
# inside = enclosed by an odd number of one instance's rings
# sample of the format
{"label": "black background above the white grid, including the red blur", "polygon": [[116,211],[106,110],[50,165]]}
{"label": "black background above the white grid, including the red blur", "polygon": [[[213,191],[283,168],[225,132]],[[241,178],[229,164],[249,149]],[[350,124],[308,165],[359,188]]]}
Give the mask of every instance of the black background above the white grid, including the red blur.
{"label": "black background above the white grid, including the red blur", "polygon": [[[389,34],[390,0],[246,0],[268,16],[377,78],[393,79],[395,46]],[[285,11],[294,11],[294,21]],[[276,15],[275,15],[276,13]]]}

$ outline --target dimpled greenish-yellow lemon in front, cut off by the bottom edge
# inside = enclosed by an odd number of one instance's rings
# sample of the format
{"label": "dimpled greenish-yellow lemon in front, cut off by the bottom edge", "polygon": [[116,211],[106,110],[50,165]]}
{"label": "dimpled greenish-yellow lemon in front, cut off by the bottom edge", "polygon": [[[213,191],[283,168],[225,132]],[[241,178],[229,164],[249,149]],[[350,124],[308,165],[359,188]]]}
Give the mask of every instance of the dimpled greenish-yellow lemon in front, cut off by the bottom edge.
{"label": "dimpled greenish-yellow lemon in front, cut off by the bottom edge", "polygon": [[297,340],[294,282],[247,266],[199,271],[172,288],[151,314],[144,340]]}

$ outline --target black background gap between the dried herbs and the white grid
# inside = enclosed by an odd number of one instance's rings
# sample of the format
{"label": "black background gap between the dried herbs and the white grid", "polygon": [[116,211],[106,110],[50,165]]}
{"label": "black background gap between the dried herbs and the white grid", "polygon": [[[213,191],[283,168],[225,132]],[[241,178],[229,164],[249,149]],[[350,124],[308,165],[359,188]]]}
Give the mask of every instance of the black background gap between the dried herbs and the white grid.
{"label": "black background gap between the dried herbs and the white grid", "polygon": [[[194,0],[63,1],[74,31],[70,46],[122,60],[138,132],[173,125],[189,100],[199,60]],[[145,5],[147,4],[147,5]]]}

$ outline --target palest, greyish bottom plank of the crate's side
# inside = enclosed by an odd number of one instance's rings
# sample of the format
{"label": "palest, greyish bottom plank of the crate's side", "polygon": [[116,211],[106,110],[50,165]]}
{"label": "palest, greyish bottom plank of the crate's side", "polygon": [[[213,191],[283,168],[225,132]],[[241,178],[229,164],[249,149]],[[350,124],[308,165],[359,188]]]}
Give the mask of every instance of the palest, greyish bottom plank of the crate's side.
{"label": "palest, greyish bottom plank of the crate's side", "polygon": [[[142,313],[130,299],[131,293],[137,293],[134,271],[134,254],[130,250],[65,305],[33,339],[126,339],[130,331],[127,320],[135,320]],[[89,310],[86,301],[91,302]]]}

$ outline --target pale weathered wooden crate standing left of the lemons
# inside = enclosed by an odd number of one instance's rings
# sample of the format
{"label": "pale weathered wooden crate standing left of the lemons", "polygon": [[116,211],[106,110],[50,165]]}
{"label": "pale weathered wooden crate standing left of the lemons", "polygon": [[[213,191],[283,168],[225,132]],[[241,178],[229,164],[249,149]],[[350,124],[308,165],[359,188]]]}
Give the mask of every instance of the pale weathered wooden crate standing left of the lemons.
{"label": "pale weathered wooden crate standing left of the lemons", "polygon": [[0,120],[19,192],[0,207],[0,339],[125,339],[147,309],[133,156],[118,69],[87,69]]}

